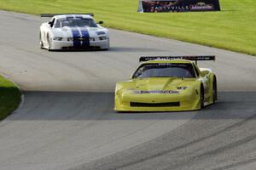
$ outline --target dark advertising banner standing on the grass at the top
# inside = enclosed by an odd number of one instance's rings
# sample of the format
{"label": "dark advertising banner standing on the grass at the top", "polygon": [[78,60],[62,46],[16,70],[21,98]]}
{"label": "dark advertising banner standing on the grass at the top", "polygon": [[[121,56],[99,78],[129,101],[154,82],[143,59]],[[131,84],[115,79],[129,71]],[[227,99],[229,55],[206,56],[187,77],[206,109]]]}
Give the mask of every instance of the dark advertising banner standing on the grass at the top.
{"label": "dark advertising banner standing on the grass at the top", "polygon": [[219,11],[218,0],[140,0],[138,12]]}

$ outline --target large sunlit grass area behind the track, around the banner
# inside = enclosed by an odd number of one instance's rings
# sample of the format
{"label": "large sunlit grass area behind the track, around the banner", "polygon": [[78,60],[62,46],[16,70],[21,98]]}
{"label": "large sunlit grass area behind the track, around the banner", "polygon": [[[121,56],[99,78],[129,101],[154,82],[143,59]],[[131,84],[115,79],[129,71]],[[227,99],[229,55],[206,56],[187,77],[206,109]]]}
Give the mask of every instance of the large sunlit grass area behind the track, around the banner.
{"label": "large sunlit grass area behind the track, around the banner", "polygon": [[255,0],[220,0],[221,12],[137,13],[138,0],[0,0],[28,14],[94,13],[105,26],[256,55]]}

